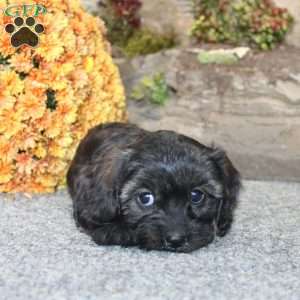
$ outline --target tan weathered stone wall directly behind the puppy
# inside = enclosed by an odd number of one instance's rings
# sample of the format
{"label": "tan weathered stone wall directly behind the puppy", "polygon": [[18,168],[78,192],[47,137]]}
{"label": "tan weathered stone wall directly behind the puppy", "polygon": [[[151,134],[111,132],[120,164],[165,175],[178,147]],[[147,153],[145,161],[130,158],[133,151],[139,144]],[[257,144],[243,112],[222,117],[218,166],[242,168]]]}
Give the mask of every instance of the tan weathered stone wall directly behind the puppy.
{"label": "tan weathered stone wall directly behind the puppy", "polygon": [[129,100],[131,122],[220,145],[244,178],[300,181],[298,49],[248,55],[231,66],[200,65],[189,49],[173,49],[119,65],[128,94],[157,72],[176,91],[163,107]]}

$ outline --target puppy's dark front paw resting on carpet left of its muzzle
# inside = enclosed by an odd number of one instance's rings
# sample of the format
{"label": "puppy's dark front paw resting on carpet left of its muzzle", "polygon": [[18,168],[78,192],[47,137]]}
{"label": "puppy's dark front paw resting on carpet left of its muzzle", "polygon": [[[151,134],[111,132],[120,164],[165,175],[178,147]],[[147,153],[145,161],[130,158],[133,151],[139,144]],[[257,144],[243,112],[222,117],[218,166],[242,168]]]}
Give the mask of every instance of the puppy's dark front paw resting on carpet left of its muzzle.
{"label": "puppy's dark front paw resting on carpet left of its muzzle", "polygon": [[91,233],[91,237],[98,245],[121,245],[124,247],[136,245],[134,232],[123,224],[103,224]]}

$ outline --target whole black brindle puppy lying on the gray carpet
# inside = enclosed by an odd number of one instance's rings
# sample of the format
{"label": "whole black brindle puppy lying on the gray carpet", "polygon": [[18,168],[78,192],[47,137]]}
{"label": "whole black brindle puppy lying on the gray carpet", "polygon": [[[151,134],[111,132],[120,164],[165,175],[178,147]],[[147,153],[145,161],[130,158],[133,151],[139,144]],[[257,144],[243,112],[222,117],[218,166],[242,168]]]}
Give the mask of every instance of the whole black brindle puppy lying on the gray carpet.
{"label": "whole black brindle puppy lying on the gray carpet", "polygon": [[89,131],[67,174],[74,217],[99,245],[190,252],[224,236],[239,174],[226,154],[172,131]]}

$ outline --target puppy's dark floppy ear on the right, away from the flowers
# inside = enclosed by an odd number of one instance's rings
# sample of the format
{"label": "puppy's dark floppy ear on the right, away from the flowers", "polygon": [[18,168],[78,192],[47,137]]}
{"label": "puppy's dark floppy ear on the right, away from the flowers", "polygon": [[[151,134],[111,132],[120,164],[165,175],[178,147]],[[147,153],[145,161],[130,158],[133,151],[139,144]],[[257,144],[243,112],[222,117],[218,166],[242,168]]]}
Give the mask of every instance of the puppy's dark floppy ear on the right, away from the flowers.
{"label": "puppy's dark floppy ear on the right, away from the flowers", "polygon": [[216,162],[225,189],[225,195],[219,208],[219,217],[217,220],[217,234],[224,236],[230,229],[233,221],[233,212],[237,205],[241,180],[239,172],[233,166],[225,151],[215,148],[212,152],[212,158]]}

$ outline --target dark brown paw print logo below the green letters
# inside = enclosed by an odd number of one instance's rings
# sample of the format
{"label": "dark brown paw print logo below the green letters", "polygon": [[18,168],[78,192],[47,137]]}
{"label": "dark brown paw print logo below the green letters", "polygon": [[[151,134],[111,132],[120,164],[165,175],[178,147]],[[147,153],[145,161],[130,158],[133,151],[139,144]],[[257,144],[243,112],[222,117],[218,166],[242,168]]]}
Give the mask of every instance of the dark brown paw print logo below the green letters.
{"label": "dark brown paw print logo below the green letters", "polygon": [[39,43],[39,34],[45,30],[42,24],[35,23],[33,17],[26,18],[25,23],[22,17],[16,17],[14,24],[5,26],[5,31],[11,35],[10,41],[15,48],[25,44],[36,47]]}

